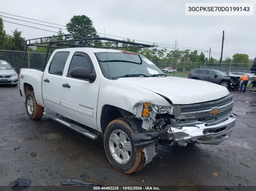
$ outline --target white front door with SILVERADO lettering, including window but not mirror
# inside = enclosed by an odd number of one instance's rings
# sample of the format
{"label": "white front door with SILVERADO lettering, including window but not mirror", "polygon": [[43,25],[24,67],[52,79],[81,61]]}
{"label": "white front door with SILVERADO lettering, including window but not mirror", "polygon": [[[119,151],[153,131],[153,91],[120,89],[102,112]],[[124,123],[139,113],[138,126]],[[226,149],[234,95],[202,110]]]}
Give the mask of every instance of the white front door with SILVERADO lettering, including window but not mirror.
{"label": "white front door with SILVERADO lettering, including window but not mirror", "polygon": [[63,115],[78,123],[97,129],[95,125],[96,109],[101,76],[98,75],[94,82],[71,77],[70,72],[76,67],[88,68],[92,74],[96,74],[90,57],[84,52],[75,52],[70,64],[67,63],[67,67],[62,81],[61,106],[65,111]]}

